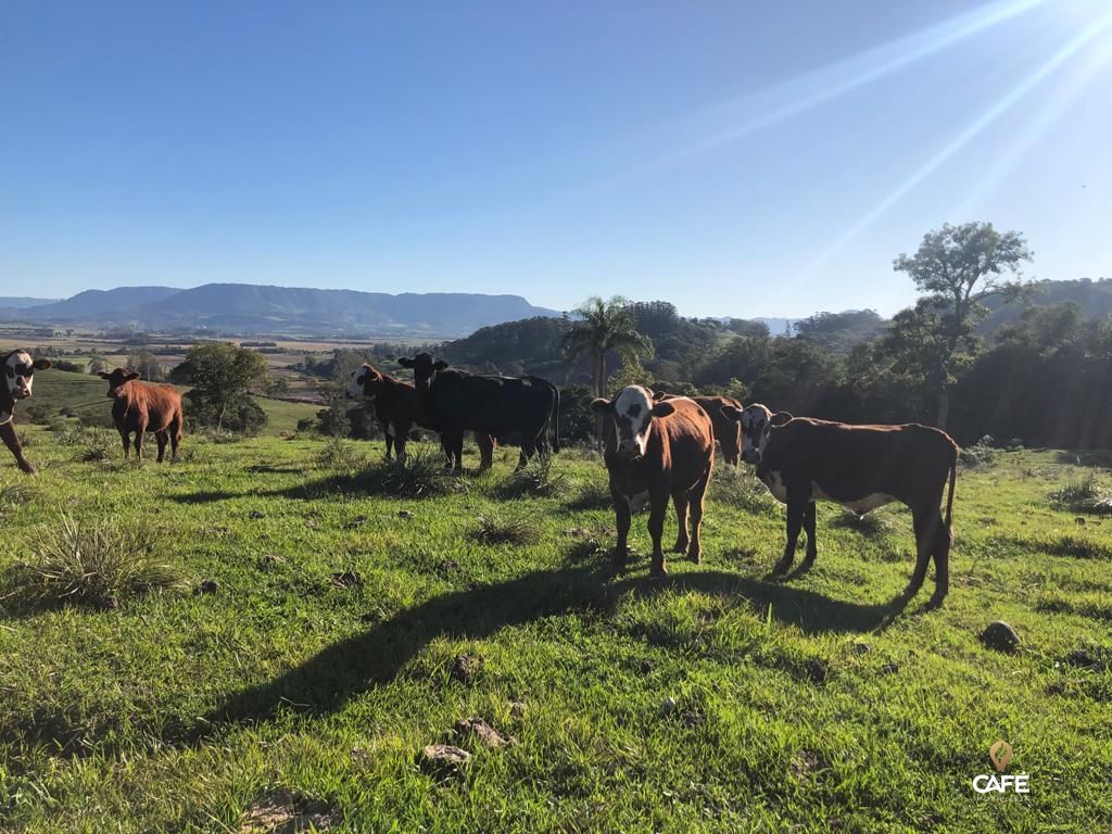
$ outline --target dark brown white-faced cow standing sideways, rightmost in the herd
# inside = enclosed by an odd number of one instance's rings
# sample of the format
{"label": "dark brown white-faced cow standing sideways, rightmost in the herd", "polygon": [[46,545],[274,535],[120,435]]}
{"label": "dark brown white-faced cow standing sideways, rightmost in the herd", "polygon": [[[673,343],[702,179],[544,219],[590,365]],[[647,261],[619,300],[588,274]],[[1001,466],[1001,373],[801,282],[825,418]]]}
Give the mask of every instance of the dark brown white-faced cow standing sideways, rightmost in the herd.
{"label": "dark brown white-faced cow standing sideways, rightmost in the herd", "polygon": [[[724,406],[723,413],[742,425],[743,457],[756,464],[757,477],[787,505],[787,545],[774,573],[783,574],[795,558],[801,527],[807,534],[807,553],[801,569],[814,564],[815,502],[833,502],[858,516],[892,502],[912,512],[915,532],[915,570],[906,595],[923,586],[934,558],[934,595],[940,605],[950,589],[951,520],[957,444],[945,431],[909,423],[858,426],[787,411],[772,414],[766,406],[745,409]],[[940,509],[946,496],[946,515]]]}

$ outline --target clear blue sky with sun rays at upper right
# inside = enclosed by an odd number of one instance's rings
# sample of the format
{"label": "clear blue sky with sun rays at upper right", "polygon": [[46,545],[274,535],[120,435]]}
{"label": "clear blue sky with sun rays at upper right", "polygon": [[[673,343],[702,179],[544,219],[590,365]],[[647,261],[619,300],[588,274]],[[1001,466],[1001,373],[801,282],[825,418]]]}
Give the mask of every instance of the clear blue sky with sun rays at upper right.
{"label": "clear blue sky with sun rays at upper right", "polygon": [[686,315],[914,298],[945,221],[1112,276],[1105,0],[0,7],[0,295],[247,281]]}

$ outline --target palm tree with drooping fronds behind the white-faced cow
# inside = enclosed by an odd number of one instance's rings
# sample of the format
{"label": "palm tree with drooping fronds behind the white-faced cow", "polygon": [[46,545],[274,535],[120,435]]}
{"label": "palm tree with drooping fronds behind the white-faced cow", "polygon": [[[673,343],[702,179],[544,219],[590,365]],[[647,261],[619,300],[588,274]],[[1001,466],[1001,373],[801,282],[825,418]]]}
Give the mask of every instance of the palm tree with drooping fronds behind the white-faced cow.
{"label": "palm tree with drooping fronds behind the white-faced cow", "polygon": [[[592,387],[596,397],[606,396],[606,355],[615,354],[623,363],[652,358],[653,342],[637,332],[637,322],[629,301],[614,296],[604,301],[592,296],[572,310],[576,320],[564,336],[564,355],[569,366],[584,357],[590,359]],[[598,438],[603,437],[603,423],[598,420]]]}

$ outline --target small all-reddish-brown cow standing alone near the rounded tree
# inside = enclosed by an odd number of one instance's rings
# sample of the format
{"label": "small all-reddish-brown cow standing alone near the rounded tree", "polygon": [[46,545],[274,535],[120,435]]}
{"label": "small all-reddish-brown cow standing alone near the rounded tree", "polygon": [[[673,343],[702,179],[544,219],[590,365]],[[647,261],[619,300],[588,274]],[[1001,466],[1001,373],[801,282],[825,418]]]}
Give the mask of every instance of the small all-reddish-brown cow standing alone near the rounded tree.
{"label": "small all-reddish-brown cow standing alone near the rounded tree", "polygon": [[130,456],[130,435],[135,433],[136,459],[142,460],[142,439],[147,431],[155,433],[158,440],[158,463],[166,457],[166,445],[170,444],[170,457],[178,457],[185,413],[181,395],[172,385],[151,385],[137,381],[139,375],[127,368],[117,368],[111,374],[100,371],[101,379],[108,380],[108,398],[112,403],[112,420],[123,441],[123,457]]}

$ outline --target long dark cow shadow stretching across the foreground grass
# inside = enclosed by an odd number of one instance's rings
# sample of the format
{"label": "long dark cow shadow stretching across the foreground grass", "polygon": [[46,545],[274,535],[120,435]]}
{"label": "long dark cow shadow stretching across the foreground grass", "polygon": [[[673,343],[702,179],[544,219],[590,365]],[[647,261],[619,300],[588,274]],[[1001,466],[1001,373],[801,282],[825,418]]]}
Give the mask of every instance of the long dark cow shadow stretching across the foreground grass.
{"label": "long dark cow shadow stretching across the foreground grass", "polygon": [[656,579],[616,576],[597,566],[537,570],[435,597],[334,643],[275,679],[234,694],[205,716],[193,735],[199,739],[215,727],[267,721],[286,709],[329,714],[359,693],[391,682],[407,662],[438,637],[483,639],[503,628],[553,615],[605,615],[623,598],[665,590],[743,598],[762,616],[771,615],[805,634],[877,631],[886,627],[909,602],[901,595],[887,603],[863,605],[723,572],[692,572]]}

